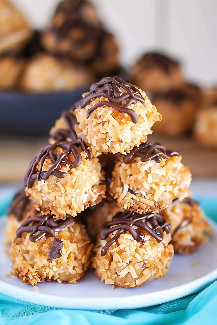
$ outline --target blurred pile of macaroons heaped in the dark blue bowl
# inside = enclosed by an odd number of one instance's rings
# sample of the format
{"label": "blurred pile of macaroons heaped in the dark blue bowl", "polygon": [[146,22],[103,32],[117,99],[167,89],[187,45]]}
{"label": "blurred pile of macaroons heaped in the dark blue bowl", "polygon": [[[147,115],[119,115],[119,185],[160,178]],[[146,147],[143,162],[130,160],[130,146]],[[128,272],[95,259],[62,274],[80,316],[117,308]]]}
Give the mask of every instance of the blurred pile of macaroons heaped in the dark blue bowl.
{"label": "blurred pile of macaroons heaped in the dark blue bowl", "polygon": [[88,0],[61,0],[41,31],[33,31],[10,0],[0,0],[0,90],[83,89],[120,71],[118,52]]}

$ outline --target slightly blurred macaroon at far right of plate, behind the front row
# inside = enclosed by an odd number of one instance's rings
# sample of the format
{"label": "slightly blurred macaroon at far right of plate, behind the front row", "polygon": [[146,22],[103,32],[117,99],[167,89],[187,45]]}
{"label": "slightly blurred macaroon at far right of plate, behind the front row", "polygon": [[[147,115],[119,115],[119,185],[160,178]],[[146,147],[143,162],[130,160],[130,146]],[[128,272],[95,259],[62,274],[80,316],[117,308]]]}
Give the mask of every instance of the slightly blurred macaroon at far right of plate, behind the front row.
{"label": "slightly blurred macaroon at far right of plate, behind the front row", "polygon": [[197,201],[190,197],[175,199],[170,208],[162,210],[160,214],[170,222],[171,244],[175,253],[194,253],[207,241],[206,234],[210,233],[211,229]]}

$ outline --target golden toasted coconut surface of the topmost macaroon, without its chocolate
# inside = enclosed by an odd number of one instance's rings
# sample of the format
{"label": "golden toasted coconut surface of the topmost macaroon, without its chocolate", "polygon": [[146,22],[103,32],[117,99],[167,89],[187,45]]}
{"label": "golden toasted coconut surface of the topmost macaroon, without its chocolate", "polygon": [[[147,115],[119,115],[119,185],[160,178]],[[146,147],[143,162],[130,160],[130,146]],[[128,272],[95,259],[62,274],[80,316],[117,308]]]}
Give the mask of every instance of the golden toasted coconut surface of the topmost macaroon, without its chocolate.
{"label": "golden toasted coconut surface of the topmost macaroon, without its chocolate", "polygon": [[[105,105],[94,110],[87,119],[87,110],[99,101],[107,100],[105,97],[93,98],[86,107],[75,109],[75,116],[79,122],[78,125],[75,125],[75,131],[78,137],[81,137],[89,145],[94,156],[98,156],[102,152],[126,154],[134,146],[138,147],[145,142],[147,135],[152,133],[153,124],[161,121],[161,114],[157,112],[145,92],[139,90],[145,103],[142,104],[137,100],[135,105],[131,104],[128,107],[137,114],[138,123],[133,123],[127,113],[120,113]],[[121,92],[125,93],[124,90]]]}

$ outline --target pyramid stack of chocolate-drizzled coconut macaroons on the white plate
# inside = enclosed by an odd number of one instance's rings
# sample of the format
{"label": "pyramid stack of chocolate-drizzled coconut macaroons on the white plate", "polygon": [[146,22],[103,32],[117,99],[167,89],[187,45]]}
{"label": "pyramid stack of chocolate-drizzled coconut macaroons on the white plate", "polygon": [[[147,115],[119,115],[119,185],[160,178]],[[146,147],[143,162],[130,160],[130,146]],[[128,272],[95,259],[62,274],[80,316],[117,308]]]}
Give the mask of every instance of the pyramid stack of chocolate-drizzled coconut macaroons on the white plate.
{"label": "pyramid stack of chocolate-drizzled coconut macaroons on the white plate", "polygon": [[209,225],[187,199],[189,168],[179,152],[147,141],[161,118],[119,77],[102,78],[62,112],[8,212],[22,282],[75,283],[92,256],[101,281],[140,287],[166,275],[173,245],[192,253],[206,240]]}

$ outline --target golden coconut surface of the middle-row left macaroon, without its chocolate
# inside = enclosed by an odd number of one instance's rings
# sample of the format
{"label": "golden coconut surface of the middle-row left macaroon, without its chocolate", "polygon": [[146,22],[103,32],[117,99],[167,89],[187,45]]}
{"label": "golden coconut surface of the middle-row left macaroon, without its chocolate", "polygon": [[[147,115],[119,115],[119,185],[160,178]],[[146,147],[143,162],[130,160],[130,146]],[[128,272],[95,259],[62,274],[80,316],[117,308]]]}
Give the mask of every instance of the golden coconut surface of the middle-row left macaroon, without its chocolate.
{"label": "golden coconut surface of the middle-row left macaroon, without its chocolate", "polygon": [[[55,154],[64,150],[57,148]],[[72,154],[68,158],[73,159]],[[86,159],[87,153],[82,151],[81,164],[76,168],[61,164],[60,171],[67,173],[64,178],[50,175],[47,181],[34,181],[32,188],[26,188],[30,199],[34,201],[39,210],[51,210],[59,219],[65,219],[66,214],[75,216],[90,205],[95,205],[105,197],[104,177],[101,174],[101,165],[97,158]],[[53,163],[50,158],[45,160],[43,171],[47,171]],[[40,168],[40,162],[37,168]]]}

